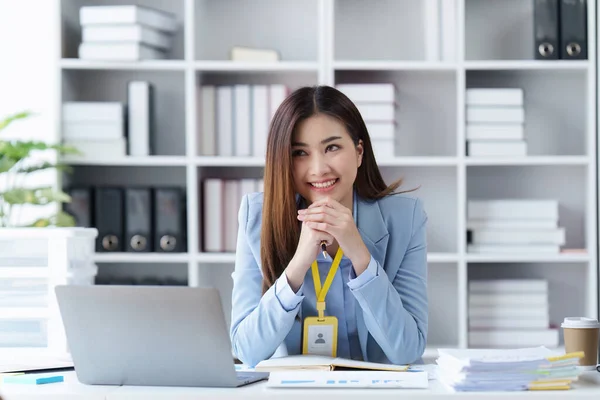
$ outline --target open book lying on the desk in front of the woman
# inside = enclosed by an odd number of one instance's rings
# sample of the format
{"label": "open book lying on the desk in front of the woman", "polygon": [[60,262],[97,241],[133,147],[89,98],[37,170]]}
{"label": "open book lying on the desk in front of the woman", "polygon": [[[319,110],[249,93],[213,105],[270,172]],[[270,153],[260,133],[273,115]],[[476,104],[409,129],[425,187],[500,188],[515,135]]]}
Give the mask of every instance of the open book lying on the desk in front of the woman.
{"label": "open book lying on the desk in front of the woman", "polygon": [[317,370],[334,371],[336,369],[359,369],[372,371],[398,371],[408,370],[408,365],[394,365],[373,363],[367,361],[349,360],[340,357],[293,355],[280,358],[263,360],[256,365],[255,371],[283,371],[283,370]]}

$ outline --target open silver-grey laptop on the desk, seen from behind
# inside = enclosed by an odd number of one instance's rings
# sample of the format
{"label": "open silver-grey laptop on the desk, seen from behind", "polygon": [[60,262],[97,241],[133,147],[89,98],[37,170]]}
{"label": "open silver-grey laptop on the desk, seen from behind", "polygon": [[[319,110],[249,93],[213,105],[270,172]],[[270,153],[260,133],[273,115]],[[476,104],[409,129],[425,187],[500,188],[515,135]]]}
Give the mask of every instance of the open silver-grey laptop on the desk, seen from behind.
{"label": "open silver-grey laptop on the desk, seen from behind", "polygon": [[90,385],[237,387],[268,373],[236,371],[214,288],[55,288],[77,378]]}

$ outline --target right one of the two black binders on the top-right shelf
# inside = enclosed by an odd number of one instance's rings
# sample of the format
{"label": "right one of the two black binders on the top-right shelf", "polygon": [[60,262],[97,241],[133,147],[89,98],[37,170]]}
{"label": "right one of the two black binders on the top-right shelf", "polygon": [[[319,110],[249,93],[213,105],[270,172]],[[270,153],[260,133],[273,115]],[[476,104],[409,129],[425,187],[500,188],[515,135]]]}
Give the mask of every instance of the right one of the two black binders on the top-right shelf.
{"label": "right one of the two black binders on the top-right shelf", "polygon": [[560,58],[587,59],[587,1],[560,0]]}

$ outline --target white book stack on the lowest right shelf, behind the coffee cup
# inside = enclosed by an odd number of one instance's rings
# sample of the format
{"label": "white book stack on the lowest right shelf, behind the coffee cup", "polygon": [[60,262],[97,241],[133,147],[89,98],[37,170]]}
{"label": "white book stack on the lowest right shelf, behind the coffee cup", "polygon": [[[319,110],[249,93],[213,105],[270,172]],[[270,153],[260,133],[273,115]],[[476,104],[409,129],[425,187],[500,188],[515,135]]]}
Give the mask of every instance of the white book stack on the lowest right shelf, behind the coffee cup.
{"label": "white book stack on the lowest right shelf, behind the coffee cup", "polygon": [[558,347],[550,327],[548,281],[500,279],[469,282],[469,347]]}

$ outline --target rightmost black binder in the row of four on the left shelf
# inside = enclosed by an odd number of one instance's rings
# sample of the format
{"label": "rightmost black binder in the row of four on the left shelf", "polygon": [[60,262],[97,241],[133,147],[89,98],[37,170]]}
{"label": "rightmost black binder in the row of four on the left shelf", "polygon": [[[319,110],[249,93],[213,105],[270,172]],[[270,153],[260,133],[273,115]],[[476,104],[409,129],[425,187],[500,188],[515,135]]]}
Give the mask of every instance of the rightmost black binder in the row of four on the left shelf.
{"label": "rightmost black binder in the row of four on the left shelf", "polygon": [[187,250],[185,192],[179,188],[154,189],[154,251]]}

